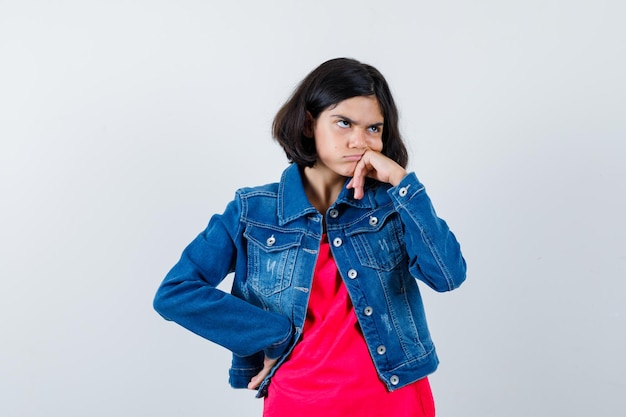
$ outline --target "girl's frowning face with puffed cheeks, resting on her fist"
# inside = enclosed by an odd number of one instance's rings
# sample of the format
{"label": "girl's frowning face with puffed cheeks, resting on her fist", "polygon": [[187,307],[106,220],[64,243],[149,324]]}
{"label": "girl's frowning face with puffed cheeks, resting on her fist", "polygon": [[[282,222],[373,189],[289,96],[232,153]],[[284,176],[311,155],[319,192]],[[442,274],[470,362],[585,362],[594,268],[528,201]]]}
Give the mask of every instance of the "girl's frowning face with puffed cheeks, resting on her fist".
{"label": "girl's frowning face with puffed cheeks, resting on her fist", "polygon": [[324,110],[313,122],[314,168],[351,177],[367,149],[383,150],[383,122],[374,96],[352,97]]}

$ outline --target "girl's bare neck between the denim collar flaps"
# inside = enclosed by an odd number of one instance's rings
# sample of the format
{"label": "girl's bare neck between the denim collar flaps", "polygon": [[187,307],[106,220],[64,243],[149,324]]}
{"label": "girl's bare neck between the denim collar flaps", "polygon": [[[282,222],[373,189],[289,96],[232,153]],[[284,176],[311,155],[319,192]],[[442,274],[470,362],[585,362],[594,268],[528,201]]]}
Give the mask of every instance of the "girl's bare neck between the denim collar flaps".
{"label": "girl's bare neck between the denim collar flaps", "polygon": [[315,167],[304,168],[303,179],[304,191],[309,201],[321,214],[326,214],[328,208],[337,201],[346,182],[341,175]]}

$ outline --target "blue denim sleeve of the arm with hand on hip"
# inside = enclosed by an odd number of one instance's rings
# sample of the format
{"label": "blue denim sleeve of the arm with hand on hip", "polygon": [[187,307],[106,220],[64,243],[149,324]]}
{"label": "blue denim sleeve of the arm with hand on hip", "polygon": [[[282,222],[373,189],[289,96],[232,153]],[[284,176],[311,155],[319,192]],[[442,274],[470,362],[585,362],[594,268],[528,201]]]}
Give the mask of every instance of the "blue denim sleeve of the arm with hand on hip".
{"label": "blue denim sleeve of the arm with hand on hip", "polygon": [[216,288],[246,256],[236,199],[183,251],[154,298],[154,309],[166,320],[214,342],[238,356],[264,351],[277,358],[289,346],[292,325],[287,317],[265,311]]}

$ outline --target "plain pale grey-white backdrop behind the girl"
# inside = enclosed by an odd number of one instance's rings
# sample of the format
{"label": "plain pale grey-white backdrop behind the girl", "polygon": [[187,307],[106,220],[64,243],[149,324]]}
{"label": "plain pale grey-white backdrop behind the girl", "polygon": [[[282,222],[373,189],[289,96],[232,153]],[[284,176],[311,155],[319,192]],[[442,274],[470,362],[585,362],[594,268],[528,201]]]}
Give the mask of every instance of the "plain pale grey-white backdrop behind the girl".
{"label": "plain pale grey-white backdrop behind the girl", "polygon": [[[152,309],[321,62],[387,78],[468,280],[438,416],[626,415],[625,3],[0,0],[0,415],[260,416]],[[294,414],[295,415],[295,414]]]}

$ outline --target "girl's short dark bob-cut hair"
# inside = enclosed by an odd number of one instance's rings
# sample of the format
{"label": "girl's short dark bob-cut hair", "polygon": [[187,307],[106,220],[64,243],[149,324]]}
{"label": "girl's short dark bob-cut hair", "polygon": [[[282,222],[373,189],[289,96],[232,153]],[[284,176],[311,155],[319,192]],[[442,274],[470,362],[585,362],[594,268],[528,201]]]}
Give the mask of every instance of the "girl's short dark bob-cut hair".
{"label": "girl's short dark bob-cut hair", "polygon": [[351,58],[331,59],[314,69],[276,114],[272,135],[289,161],[301,167],[317,162],[315,141],[306,135],[307,112],[317,119],[331,106],[359,96],[375,96],[378,100],[384,118],[382,153],[406,168],[408,152],[387,81],[376,68]]}

